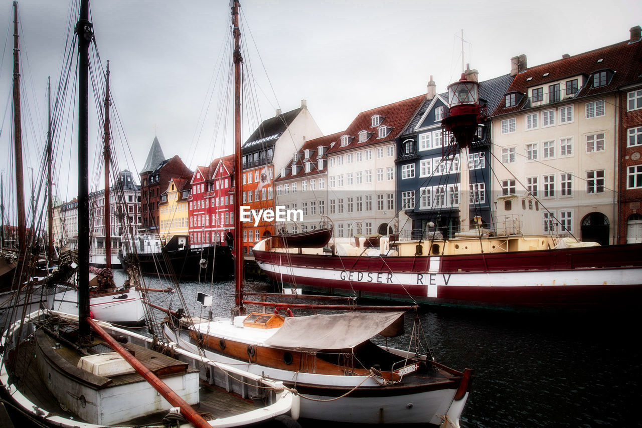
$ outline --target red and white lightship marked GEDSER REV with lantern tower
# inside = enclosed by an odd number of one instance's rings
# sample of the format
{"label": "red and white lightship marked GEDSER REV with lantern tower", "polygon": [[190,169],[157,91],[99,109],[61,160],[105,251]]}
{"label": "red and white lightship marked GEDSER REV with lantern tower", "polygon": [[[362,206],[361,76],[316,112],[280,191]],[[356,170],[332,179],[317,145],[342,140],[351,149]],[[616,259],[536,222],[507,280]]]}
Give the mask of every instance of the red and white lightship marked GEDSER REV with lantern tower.
{"label": "red and white lightship marked GEDSER REV with lantern tower", "polygon": [[[482,122],[478,85],[463,73],[449,85],[442,132],[444,141],[454,139],[455,150],[471,146]],[[467,177],[467,162],[460,167],[460,176]],[[468,198],[459,198],[459,204],[460,213],[469,212]],[[273,246],[273,238],[267,237],[253,253],[273,281],[312,293],[517,311],[638,304],[642,244],[600,246],[534,233],[538,226],[541,230],[542,210],[532,194],[500,196],[492,224],[477,219],[473,228],[451,239],[428,228],[421,239],[385,236],[378,248],[357,241],[324,252],[320,247]]]}

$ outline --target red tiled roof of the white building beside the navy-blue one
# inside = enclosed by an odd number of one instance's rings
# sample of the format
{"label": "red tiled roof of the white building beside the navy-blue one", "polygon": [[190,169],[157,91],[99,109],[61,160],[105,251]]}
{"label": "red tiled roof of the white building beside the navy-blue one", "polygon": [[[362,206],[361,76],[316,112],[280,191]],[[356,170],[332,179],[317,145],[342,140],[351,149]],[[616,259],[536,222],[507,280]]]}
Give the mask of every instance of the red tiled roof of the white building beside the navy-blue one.
{"label": "red tiled roof of the white building beside the navy-blue one", "polygon": [[[360,148],[363,146],[370,146],[372,144],[377,144],[378,142],[383,141],[392,141],[401,133],[406,126],[406,123],[412,119],[413,114],[417,112],[417,109],[421,106],[421,103],[426,99],[426,94],[422,94],[413,98],[404,99],[403,101],[397,101],[396,103],[388,104],[385,106],[372,108],[372,110],[367,110],[361,112],[358,116],[352,121],[350,126],[343,132],[341,135],[351,135],[354,137],[347,146],[341,147],[341,142],[337,141],[337,144],[334,144],[334,147],[331,148],[328,153],[336,153],[337,151],[342,150],[351,150]],[[383,116],[383,121],[379,123],[378,126],[371,126],[370,118],[378,114]],[[384,138],[377,138],[377,129],[379,126],[388,126],[390,132]],[[372,134],[365,142],[359,141],[359,132],[367,131]]]}

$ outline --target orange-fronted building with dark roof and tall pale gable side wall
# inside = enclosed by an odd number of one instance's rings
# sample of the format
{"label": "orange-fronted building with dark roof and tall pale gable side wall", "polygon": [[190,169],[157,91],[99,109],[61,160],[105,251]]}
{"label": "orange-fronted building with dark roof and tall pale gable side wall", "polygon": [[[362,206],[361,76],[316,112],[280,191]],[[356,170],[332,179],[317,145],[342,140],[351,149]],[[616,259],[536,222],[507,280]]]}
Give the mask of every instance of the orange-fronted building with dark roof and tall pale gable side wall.
{"label": "orange-fronted building with dark roof and tall pale gable side wall", "polygon": [[[274,209],[274,171],[288,164],[291,153],[299,151],[307,140],[322,134],[308,111],[306,100],[301,107],[266,119],[241,148],[243,192],[241,204],[251,210]],[[272,221],[247,221],[243,224],[243,250],[249,253],[261,237],[273,235]]]}

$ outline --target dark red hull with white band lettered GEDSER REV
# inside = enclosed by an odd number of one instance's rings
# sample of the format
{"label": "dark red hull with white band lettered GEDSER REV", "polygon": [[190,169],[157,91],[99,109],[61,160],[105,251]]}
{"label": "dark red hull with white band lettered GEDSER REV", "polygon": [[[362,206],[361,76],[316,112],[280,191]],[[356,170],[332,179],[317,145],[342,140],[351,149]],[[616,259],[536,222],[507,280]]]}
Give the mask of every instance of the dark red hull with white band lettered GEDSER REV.
{"label": "dark red hull with white band lettered GEDSER REV", "polygon": [[416,257],[254,250],[272,280],[308,291],[426,304],[598,309],[639,304],[642,246]]}

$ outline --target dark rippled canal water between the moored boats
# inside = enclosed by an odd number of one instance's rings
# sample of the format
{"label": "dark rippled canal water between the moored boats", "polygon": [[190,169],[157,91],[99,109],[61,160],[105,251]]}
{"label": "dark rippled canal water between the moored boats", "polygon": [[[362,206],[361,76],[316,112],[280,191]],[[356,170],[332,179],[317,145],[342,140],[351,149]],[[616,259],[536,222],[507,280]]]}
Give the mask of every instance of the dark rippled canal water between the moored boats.
{"label": "dark rippled canal water between the moored boats", "polygon": [[[171,285],[145,278],[149,287]],[[234,305],[232,282],[186,282],[181,289],[195,316],[207,317],[207,309],[196,302],[198,291],[213,295],[215,316],[229,316]],[[249,281],[246,290],[272,287]],[[161,305],[171,299],[177,307],[176,293],[153,296]],[[642,426],[637,408],[642,397],[638,313],[516,314],[422,307],[418,316],[439,363],[475,370],[462,427]],[[406,314],[406,334],[412,331],[413,318]],[[406,348],[408,336],[389,343]]]}

